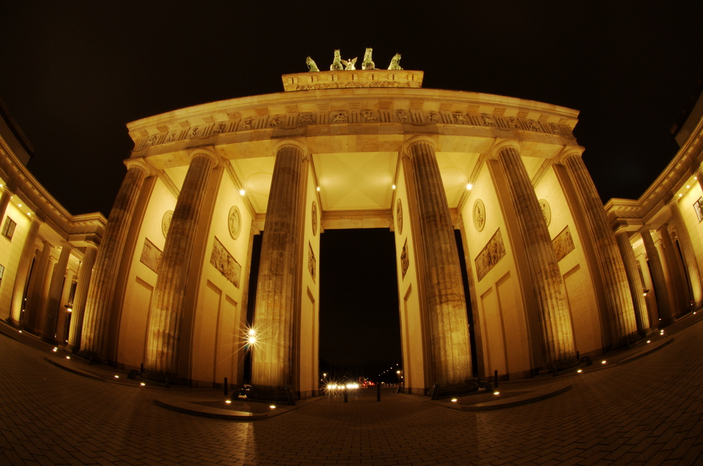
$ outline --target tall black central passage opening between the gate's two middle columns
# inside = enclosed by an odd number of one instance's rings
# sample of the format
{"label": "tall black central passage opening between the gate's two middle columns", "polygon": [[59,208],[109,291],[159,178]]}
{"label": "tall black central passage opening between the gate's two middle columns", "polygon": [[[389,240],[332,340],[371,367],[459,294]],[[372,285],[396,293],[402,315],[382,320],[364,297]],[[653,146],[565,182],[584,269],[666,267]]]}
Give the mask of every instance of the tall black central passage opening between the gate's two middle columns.
{"label": "tall black central passage opening between the gate's two middle columns", "polygon": [[320,241],[320,373],[396,382],[403,363],[394,233],[328,229]]}

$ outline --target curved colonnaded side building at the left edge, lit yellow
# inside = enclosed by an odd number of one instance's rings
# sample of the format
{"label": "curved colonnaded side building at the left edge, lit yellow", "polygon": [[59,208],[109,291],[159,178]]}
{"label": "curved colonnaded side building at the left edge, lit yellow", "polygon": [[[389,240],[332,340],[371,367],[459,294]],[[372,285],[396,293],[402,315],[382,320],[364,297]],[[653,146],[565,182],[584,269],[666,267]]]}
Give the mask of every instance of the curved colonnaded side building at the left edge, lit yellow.
{"label": "curved colonnaded side building at the left edge, lit yellow", "polygon": [[77,347],[93,261],[107,220],[101,213],[68,213],[25,167],[31,151],[3,106],[0,316],[46,342]]}

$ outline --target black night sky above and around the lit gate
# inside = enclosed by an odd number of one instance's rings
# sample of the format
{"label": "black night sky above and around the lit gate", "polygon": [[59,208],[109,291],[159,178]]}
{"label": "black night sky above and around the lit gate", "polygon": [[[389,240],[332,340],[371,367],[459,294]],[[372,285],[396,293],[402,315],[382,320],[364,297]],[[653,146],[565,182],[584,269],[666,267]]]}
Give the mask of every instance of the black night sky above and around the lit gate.
{"label": "black night sky above and around the lit gate", "polygon": [[[335,48],[361,60],[373,47],[377,67],[399,52],[402,67],[425,72],[425,88],[579,109],[574,133],[603,201],[636,199],[676,153],[669,129],[703,72],[703,2],[447,3],[4,0],[0,95],[34,146],[28,168],[73,214],[108,215],[131,150],[127,122],[283,91],[281,74],[306,71],[307,55],[326,69]],[[336,234],[323,234],[323,287],[343,272],[325,262]],[[382,242],[341,242],[369,241]],[[354,272],[349,258],[364,260],[346,254],[340,267]],[[333,293],[359,294],[361,275]],[[395,295],[368,293],[366,302],[397,306]],[[327,312],[356,319],[346,306],[359,305],[335,305],[321,301],[321,325]],[[393,345],[377,356],[393,362]],[[332,350],[321,357],[347,364]]]}

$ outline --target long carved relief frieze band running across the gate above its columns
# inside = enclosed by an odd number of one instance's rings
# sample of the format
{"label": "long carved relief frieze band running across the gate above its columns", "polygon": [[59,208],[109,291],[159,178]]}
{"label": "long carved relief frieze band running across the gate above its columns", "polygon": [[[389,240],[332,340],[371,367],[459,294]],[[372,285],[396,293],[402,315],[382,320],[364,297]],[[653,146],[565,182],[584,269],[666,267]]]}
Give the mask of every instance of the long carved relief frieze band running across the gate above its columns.
{"label": "long carved relief frieze band running across the gate above its columns", "polygon": [[[355,102],[352,102],[355,103]],[[416,102],[413,102],[416,103]],[[376,109],[371,108],[372,103],[367,102],[367,108],[349,108],[340,111],[325,111],[329,105],[320,107],[320,112],[298,112],[288,114],[269,114],[268,109],[257,108],[252,116],[243,116],[241,112],[228,113],[228,121],[214,121],[214,117],[205,116],[203,121],[213,120],[210,124],[195,125],[190,121],[181,121],[188,124],[181,129],[169,129],[168,126],[159,126],[160,133],[149,134],[142,131],[138,135],[133,134],[133,138],[138,140],[137,147],[144,148],[155,145],[163,145],[182,140],[192,140],[209,138],[213,135],[231,134],[240,131],[270,130],[272,128],[293,129],[300,126],[325,125],[325,124],[382,124],[382,123],[412,123],[412,124],[444,124],[450,126],[474,126],[479,128],[494,128],[501,131],[527,131],[532,133],[543,133],[556,135],[567,139],[573,139],[571,128],[565,121],[559,123],[547,122],[546,116],[540,119],[527,119],[527,112],[520,112],[515,116],[505,116],[503,112],[494,114],[476,114],[470,108],[470,112],[463,112],[452,107],[463,105],[451,105],[443,103],[439,105],[439,112],[423,110],[422,106],[410,109]],[[354,107],[354,106],[352,106]],[[389,105],[385,105],[389,107]],[[264,112],[265,110],[265,112]],[[475,110],[475,109],[474,109]],[[238,116],[232,120],[232,116]],[[166,131],[164,131],[166,129]],[[136,138],[141,136],[141,138]]]}

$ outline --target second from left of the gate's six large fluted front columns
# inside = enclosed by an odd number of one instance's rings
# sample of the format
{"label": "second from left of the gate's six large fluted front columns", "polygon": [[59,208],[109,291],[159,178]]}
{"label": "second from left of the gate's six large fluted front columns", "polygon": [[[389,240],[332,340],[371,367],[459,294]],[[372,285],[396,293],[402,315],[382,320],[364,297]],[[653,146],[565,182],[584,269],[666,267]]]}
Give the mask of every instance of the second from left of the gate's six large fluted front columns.
{"label": "second from left of the gate's six large fluted front columns", "polygon": [[210,152],[194,152],[176,201],[157,269],[147,331],[145,367],[152,378],[178,378],[181,319],[195,229],[205,198],[205,187],[217,163],[217,156]]}

